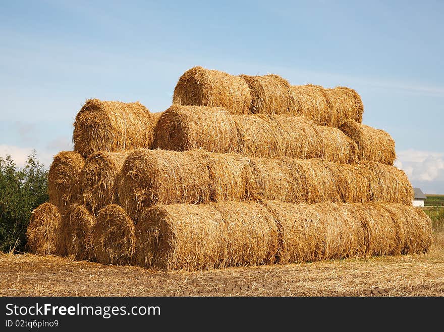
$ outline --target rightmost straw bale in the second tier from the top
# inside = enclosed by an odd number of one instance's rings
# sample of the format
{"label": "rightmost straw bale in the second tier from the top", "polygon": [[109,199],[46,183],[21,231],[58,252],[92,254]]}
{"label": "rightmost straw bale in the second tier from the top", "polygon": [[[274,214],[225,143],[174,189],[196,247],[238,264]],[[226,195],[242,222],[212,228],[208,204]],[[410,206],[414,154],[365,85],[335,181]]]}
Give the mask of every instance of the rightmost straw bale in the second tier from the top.
{"label": "rightmost straw bale in the second tier from the top", "polygon": [[356,142],[359,160],[387,165],[395,162],[395,141],[389,133],[350,120],[345,121],[340,129]]}

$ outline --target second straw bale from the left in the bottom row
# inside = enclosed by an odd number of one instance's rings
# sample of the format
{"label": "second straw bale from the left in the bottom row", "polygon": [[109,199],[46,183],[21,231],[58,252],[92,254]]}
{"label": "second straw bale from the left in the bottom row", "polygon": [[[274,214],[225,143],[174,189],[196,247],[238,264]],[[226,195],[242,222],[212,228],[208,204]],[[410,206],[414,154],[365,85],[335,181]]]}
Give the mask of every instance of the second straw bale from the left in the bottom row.
{"label": "second straw bale from the left in the bottom row", "polygon": [[94,222],[94,215],[84,205],[70,205],[60,222],[56,243],[57,254],[73,256],[77,260],[89,259]]}

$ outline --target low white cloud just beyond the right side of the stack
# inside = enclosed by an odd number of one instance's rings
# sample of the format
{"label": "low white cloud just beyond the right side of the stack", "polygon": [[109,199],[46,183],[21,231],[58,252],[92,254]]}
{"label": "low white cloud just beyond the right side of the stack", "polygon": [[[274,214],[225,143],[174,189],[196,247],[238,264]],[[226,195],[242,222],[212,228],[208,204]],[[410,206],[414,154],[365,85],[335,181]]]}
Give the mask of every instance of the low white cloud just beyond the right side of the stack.
{"label": "low white cloud just beyond the right side of the stack", "polygon": [[414,186],[420,186],[428,194],[444,193],[444,153],[400,151],[395,166],[406,172]]}

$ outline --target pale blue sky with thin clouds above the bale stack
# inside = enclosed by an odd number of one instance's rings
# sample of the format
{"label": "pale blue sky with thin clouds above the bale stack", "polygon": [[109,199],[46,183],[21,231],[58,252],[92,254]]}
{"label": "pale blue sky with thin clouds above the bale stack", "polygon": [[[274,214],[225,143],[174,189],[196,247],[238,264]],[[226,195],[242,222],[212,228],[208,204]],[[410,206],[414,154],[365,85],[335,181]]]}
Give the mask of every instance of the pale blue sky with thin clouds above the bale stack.
{"label": "pale blue sky with thin clouds above the bale stack", "polygon": [[443,15],[439,1],[2,2],[0,156],[49,165],[86,99],[163,111],[200,65],[356,89],[413,185],[444,193]]}

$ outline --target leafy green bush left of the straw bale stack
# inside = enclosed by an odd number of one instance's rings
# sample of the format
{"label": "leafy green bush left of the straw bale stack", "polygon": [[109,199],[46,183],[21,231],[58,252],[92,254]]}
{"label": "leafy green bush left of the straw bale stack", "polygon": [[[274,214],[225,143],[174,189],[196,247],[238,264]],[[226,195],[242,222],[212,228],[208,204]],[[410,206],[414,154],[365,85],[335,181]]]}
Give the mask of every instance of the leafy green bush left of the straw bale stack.
{"label": "leafy green bush left of the straw bale stack", "polygon": [[35,151],[23,168],[11,156],[0,158],[0,251],[24,252],[31,212],[47,200],[48,171]]}

